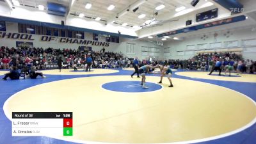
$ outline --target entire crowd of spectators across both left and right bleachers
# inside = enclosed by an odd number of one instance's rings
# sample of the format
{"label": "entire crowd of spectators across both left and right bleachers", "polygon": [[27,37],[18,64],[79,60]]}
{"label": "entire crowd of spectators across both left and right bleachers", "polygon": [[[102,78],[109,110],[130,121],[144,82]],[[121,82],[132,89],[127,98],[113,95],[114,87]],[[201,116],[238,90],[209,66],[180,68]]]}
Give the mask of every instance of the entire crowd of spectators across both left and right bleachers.
{"label": "entire crowd of spectators across both left and right bleachers", "polygon": [[[64,68],[84,68],[86,65],[86,57],[92,58],[93,68],[124,68],[132,67],[133,59],[126,58],[122,52],[105,52],[101,51],[82,51],[80,49],[47,49],[41,48],[9,48],[1,47],[0,49],[0,68],[8,69],[10,65],[17,65],[21,69],[24,66],[35,66],[37,70],[56,68],[58,58],[63,60]],[[255,72],[255,61],[243,60],[241,54],[229,52],[200,53],[188,60],[141,60],[140,66],[153,63],[162,65],[170,65],[172,68],[188,69],[188,70],[208,70],[214,68],[216,61],[223,60],[223,70],[225,65],[232,63],[234,70],[241,65],[242,72]],[[55,65],[55,67],[54,67]]]}

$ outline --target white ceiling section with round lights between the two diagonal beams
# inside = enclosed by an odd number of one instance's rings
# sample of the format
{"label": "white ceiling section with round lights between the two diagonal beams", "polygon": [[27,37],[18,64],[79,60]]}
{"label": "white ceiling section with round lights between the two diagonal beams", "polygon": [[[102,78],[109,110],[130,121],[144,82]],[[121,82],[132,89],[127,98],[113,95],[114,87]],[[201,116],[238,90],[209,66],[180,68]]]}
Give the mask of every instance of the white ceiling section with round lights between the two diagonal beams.
{"label": "white ceiling section with round lights between the two diagonal beams", "polygon": [[[136,3],[138,2],[138,3]],[[92,3],[92,8],[87,10],[84,8],[86,3]],[[165,8],[158,11],[158,15],[164,15],[166,13],[173,12],[175,8],[185,6],[191,8],[191,1],[188,0],[79,0],[76,1],[70,8],[70,13],[84,13],[87,17],[101,17],[102,20],[107,22],[118,22],[120,24],[127,23],[129,26],[142,26],[146,20],[156,17],[154,13],[157,6],[164,4]],[[207,3],[206,1],[200,1],[199,4]],[[113,10],[107,10],[110,4],[115,5]],[[136,12],[133,12],[134,8],[137,8]],[[129,12],[127,12],[129,10]],[[124,12],[124,15],[118,16],[119,13]],[[143,19],[139,19],[140,14],[145,14]],[[158,16],[157,15],[157,16]],[[118,19],[115,17],[118,16]]]}

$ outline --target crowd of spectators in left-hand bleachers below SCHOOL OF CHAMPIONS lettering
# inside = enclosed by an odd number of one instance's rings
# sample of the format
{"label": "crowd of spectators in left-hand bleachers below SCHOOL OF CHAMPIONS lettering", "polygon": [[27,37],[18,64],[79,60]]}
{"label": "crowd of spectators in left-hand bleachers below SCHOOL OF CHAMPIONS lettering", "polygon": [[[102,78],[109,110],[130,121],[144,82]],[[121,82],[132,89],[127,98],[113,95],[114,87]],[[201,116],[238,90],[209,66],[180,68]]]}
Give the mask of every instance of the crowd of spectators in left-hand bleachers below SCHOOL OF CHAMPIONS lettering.
{"label": "crowd of spectators in left-hand bleachers below SCHOOL OF CHAMPIONS lettering", "polygon": [[[121,52],[94,52],[81,51],[79,49],[47,49],[41,48],[9,48],[1,47],[0,49],[0,68],[8,69],[13,63],[21,69],[24,66],[35,66],[36,69],[42,70],[47,68],[56,68],[58,58],[63,59],[65,68],[74,67],[83,68],[86,63],[86,57],[91,57],[93,60],[92,67],[95,68],[118,68],[124,65],[131,64],[131,60],[125,58]],[[52,67],[55,66],[55,67]]]}

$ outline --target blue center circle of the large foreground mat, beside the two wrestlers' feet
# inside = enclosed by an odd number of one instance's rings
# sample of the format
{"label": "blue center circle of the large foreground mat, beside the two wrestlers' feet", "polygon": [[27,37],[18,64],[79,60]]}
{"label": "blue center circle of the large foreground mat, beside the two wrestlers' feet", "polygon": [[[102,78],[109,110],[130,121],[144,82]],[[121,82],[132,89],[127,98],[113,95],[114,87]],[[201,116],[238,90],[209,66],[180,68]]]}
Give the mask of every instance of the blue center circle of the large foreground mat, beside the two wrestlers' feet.
{"label": "blue center circle of the large foreground mat, beside the two wrestlers' feet", "polygon": [[102,84],[102,88],[106,90],[111,90],[115,92],[130,92],[130,93],[138,93],[138,92],[153,92],[156,90],[160,90],[162,88],[161,85],[147,82],[146,85],[148,89],[142,88],[140,85],[141,81],[115,81],[111,83]]}

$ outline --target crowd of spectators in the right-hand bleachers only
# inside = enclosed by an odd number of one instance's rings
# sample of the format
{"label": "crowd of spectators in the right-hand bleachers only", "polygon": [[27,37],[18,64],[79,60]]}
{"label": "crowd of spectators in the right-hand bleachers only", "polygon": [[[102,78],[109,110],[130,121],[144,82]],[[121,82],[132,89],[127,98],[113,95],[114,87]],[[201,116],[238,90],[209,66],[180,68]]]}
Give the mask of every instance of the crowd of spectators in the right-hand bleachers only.
{"label": "crowd of spectators in the right-hand bleachers only", "polygon": [[174,68],[188,69],[188,70],[203,70],[211,71],[214,68],[216,61],[222,60],[223,65],[221,70],[225,71],[227,65],[234,67],[234,72],[253,73],[256,70],[256,63],[253,60],[243,60],[241,54],[230,53],[230,52],[209,52],[199,53],[189,60],[168,60],[164,63],[173,65]]}

